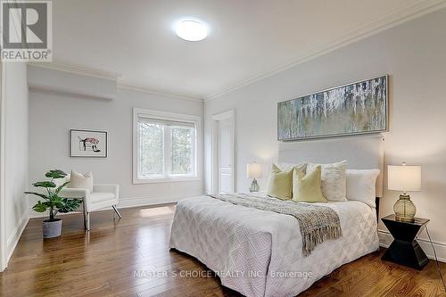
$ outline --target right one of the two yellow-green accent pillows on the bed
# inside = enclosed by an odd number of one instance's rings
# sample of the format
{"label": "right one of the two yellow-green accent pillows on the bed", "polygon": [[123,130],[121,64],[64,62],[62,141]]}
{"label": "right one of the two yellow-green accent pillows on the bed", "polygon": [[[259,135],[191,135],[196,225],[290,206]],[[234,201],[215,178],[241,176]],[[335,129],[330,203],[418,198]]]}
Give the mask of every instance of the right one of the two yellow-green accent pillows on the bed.
{"label": "right one of the two yellow-green accent pillows on the bed", "polygon": [[320,165],[307,175],[293,169],[293,201],[294,202],[327,202],[321,190]]}

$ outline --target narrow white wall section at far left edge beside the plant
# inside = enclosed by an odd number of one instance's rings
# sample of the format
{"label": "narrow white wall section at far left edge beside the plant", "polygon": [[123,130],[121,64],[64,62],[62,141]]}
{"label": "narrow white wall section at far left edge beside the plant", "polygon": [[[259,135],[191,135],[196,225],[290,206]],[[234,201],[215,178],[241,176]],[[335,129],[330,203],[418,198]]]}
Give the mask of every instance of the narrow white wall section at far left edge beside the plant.
{"label": "narrow white wall section at far left edge beside the plant", "polygon": [[29,212],[28,188],[28,86],[24,62],[4,65],[4,215],[6,261],[12,255]]}

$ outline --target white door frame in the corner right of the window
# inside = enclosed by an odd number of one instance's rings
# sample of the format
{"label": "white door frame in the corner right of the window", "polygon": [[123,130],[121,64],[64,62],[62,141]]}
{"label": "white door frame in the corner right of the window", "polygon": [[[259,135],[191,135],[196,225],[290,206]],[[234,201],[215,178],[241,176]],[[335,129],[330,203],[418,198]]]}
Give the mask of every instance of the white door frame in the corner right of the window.
{"label": "white door frame in the corner right of the window", "polygon": [[211,156],[211,193],[219,191],[219,121],[230,120],[232,122],[232,185],[235,191],[235,111],[229,110],[212,115],[212,156]]}

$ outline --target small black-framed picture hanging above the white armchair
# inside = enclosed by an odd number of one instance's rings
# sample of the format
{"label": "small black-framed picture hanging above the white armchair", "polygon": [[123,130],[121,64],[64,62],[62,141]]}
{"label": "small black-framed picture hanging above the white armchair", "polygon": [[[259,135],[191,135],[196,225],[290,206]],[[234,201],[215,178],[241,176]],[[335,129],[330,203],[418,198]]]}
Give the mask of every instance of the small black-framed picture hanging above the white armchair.
{"label": "small black-framed picture hanging above the white armchair", "polygon": [[107,132],[70,130],[70,157],[107,157]]}

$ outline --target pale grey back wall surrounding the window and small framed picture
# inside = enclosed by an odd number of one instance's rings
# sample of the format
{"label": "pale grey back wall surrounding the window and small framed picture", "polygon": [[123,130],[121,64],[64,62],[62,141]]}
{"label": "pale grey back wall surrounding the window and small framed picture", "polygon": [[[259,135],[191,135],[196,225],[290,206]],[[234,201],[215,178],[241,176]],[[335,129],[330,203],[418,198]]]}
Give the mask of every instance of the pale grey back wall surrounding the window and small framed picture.
{"label": "pale grey back wall surrounding the window and small framed picture", "polygon": [[[47,70],[29,66],[29,82],[37,84],[37,77]],[[51,70],[54,71],[54,70]],[[61,72],[61,75],[66,75]],[[78,76],[72,74],[71,76]],[[42,78],[38,79],[42,81]],[[47,169],[70,172],[93,171],[95,183],[120,185],[119,207],[178,201],[180,198],[202,194],[202,179],[190,182],[132,184],[132,117],[133,107],[202,116],[202,102],[167,95],[153,95],[117,88],[112,100],[88,96],[91,84],[101,85],[97,78],[72,80],[70,95],[53,87],[43,92],[30,88],[29,92],[29,179],[37,181]],[[77,85],[76,82],[79,82]],[[109,82],[104,81],[109,84]],[[73,90],[82,91],[74,95]],[[100,89],[95,87],[95,92]],[[107,90],[110,90],[107,87]],[[96,94],[96,95],[97,95]],[[96,96],[95,95],[95,96]],[[107,158],[70,158],[71,128],[108,132]],[[200,161],[200,171],[202,171]],[[29,206],[35,199],[29,199]],[[32,213],[33,216],[36,214]]]}

